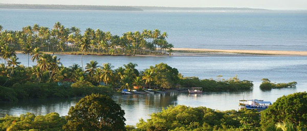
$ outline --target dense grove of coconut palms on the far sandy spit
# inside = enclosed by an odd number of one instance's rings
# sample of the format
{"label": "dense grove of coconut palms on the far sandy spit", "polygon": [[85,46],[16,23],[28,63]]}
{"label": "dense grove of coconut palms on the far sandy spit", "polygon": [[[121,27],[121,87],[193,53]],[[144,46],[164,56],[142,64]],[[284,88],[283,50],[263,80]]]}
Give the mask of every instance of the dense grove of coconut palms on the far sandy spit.
{"label": "dense grove of coconut palms on the far sandy spit", "polygon": [[161,33],[158,29],[143,30],[142,33],[127,32],[118,36],[87,28],[81,35],[79,28],[65,28],[60,22],[56,22],[53,29],[34,24],[33,27],[29,25],[21,31],[2,30],[0,25],[0,48],[13,48],[24,51],[27,55],[34,47],[48,52],[79,51],[78,54],[82,55],[86,52],[109,55],[166,54],[166,51],[170,53],[173,47],[166,41],[167,33]]}

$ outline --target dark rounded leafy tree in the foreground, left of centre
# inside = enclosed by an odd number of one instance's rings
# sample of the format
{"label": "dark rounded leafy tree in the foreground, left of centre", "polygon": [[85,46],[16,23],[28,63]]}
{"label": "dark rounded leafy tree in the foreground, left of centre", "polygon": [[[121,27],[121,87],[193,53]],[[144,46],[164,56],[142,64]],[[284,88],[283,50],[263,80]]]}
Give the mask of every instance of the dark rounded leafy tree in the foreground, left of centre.
{"label": "dark rounded leafy tree in the foreground, left of centre", "polygon": [[85,96],[71,107],[64,130],[125,130],[124,111],[106,95]]}

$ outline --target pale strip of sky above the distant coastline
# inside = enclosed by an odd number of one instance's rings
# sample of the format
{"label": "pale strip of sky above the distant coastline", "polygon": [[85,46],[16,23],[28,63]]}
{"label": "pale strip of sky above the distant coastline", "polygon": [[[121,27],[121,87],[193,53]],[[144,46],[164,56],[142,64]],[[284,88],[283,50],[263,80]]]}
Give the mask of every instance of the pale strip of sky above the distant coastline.
{"label": "pale strip of sky above the distant coastline", "polygon": [[0,0],[0,3],[160,7],[238,7],[272,10],[307,10],[307,0]]}

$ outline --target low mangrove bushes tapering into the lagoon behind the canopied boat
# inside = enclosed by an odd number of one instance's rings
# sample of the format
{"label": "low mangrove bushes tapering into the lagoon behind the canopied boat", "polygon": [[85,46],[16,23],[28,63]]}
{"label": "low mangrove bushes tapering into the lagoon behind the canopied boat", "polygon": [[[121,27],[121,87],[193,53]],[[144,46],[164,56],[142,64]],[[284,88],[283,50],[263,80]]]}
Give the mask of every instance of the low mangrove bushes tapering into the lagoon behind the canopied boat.
{"label": "low mangrove bushes tapering into the lagoon behind the canopied boat", "polygon": [[204,91],[238,91],[253,88],[251,81],[240,81],[238,78],[230,78],[226,81],[200,80],[198,77],[181,77],[179,84],[182,87],[203,87]]}

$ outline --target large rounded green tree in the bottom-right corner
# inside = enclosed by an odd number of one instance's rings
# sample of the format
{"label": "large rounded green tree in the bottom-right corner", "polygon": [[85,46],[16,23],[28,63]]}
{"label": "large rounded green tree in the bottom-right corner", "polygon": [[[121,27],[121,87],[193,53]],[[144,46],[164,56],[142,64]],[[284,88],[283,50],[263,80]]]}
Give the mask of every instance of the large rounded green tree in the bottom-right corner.
{"label": "large rounded green tree in the bottom-right corner", "polygon": [[307,129],[307,93],[299,92],[279,97],[268,109],[261,112],[261,129],[275,130],[278,122],[293,123],[298,130]]}

